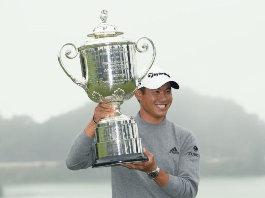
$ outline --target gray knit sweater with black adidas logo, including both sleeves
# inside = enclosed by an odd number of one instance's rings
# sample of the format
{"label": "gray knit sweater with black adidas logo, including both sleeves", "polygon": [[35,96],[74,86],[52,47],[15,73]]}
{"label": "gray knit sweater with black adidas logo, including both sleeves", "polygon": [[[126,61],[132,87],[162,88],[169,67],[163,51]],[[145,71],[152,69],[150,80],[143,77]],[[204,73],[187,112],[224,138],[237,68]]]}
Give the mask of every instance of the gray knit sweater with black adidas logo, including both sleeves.
{"label": "gray knit sweater with black adidas logo, including both sleeves", "polygon": [[[154,154],[156,165],[169,174],[169,180],[165,186],[159,187],[145,172],[112,166],[112,197],[195,197],[200,152],[193,133],[166,118],[159,124],[149,124],[139,114],[134,119],[143,147]],[[84,131],[77,136],[67,155],[67,167],[78,170],[92,166],[95,159],[93,144],[94,138],[86,136]]]}

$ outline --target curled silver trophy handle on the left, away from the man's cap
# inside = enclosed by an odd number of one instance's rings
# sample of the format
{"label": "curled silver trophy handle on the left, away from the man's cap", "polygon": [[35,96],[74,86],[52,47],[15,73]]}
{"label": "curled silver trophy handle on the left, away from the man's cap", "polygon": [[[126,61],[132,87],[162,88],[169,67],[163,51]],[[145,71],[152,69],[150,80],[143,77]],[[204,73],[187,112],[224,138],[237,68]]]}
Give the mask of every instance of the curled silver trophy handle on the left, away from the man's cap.
{"label": "curled silver trophy handle on the left, away from the man's cap", "polygon": [[65,43],[64,45],[62,45],[62,47],[60,48],[60,50],[58,51],[58,54],[57,54],[57,56],[58,56],[58,61],[59,61],[59,63],[60,63],[60,65],[61,65],[61,67],[62,67],[62,69],[63,69],[63,71],[66,73],[66,75],[69,77],[69,78],[71,78],[71,80],[75,83],[75,84],[77,84],[77,85],[79,85],[80,87],[82,87],[86,92],[87,92],[87,87],[86,87],[86,80],[85,79],[83,79],[83,80],[77,80],[77,78],[75,78],[67,69],[66,69],[66,67],[64,66],[64,64],[63,64],[63,61],[62,61],[62,58],[61,58],[61,51],[62,51],[62,49],[63,49],[63,47],[64,46],[66,46],[66,45],[71,45],[71,46],[73,46],[74,48],[75,48],[75,54],[73,55],[73,56],[70,56],[70,54],[72,53],[72,51],[71,50],[67,50],[66,52],[65,52],[65,56],[67,57],[67,58],[70,58],[70,59],[72,59],[72,58],[75,58],[76,56],[77,56],[77,54],[78,54],[78,49],[77,49],[77,47],[73,44],[73,43]]}

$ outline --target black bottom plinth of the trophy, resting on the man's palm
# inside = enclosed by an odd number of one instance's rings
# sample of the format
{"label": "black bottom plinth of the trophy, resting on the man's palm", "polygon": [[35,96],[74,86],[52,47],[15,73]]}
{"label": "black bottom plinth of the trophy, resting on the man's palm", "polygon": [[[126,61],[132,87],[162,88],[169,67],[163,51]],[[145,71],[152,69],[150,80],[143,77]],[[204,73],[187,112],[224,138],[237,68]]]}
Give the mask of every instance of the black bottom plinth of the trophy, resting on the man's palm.
{"label": "black bottom plinth of the trophy, resting on the man's palm", "polygon": [[97,167],[107,167],[107,166],[116,166],[124,163],[133,163],[133,162],[145,162],[148,161],[148,158],[144,153],[132,153],[125,155],[116,155],[97,158],[92,165],[92,168]]}

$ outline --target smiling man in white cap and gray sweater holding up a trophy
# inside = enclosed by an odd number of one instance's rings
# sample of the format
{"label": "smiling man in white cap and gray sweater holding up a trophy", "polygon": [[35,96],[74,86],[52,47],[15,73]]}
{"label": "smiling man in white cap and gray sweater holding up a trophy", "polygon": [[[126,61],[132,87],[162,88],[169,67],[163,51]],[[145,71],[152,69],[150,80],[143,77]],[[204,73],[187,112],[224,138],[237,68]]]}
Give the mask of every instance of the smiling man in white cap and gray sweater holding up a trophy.
{"label": "smiling man in white cap and gray sweater holding up a trophy", "polygon": [[[193,133],[166,118],[172,103],[171,87],[179,89],[170,75],[159,67],[152,67],[139,83],[135,97],[140,102],[140,111],[134,119],[149,161],[111,167],[112,197],[196,196],[198,145]],[[98,104],[93,119],[76,137],[67,155],[69,169],[87,168],[93,164],[96,122],[112,116],[115,116],[115,110],[111,105]]]}

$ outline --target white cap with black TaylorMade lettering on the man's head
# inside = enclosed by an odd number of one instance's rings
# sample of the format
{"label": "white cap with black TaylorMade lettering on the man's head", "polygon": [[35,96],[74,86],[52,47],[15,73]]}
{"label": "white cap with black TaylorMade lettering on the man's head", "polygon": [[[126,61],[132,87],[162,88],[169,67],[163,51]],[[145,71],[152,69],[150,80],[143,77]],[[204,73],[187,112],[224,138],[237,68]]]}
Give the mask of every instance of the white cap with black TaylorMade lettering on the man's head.
{"label": "white cap with black TaylorMade lettering on the man's head", "polygon": [[[139,74],[142,75],[145,70],[146,68],[142,69]],[[164,69],[152,66],[147,75],[138,84],[138,89],[142,87],[146,87],[148,89],[158,89],[168,82],[170,82],[172,88],[179,89],[179,84],[175,80],[171,79],[171,76]]]}

